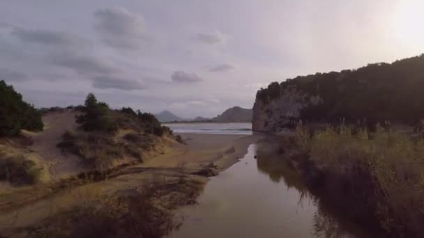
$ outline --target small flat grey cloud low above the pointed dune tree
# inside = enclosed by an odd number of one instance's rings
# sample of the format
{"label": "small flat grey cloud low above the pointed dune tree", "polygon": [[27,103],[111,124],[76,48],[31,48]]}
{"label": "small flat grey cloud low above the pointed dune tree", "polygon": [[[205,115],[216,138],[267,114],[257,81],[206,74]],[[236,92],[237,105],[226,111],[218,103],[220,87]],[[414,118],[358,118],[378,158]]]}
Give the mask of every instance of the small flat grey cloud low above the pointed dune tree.
{"label": "small flat grey cloud low above the pointed dune tree", "polygon": [[116,88],[120,90],[142,90],[144,85],[136,80],[121,79],[119,77],[100,76],[93,78],[93,87],[106,89]]}

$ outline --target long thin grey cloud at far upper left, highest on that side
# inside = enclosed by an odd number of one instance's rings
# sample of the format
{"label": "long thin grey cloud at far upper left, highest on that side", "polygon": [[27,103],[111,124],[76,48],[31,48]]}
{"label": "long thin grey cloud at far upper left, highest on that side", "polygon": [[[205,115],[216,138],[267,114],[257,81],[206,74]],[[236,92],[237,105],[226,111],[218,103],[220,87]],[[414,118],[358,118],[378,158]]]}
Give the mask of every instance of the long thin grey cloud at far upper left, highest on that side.
{"label": "long thin grey cloud at far upper left, highest on that side", "polygon": [[90,44],[88,39],[61,31],[30,30],[22,27],[14,27],[12,35],[15,35],[23,42],[33,42],[49,46],[64,45],[83,47],[84,45]]}

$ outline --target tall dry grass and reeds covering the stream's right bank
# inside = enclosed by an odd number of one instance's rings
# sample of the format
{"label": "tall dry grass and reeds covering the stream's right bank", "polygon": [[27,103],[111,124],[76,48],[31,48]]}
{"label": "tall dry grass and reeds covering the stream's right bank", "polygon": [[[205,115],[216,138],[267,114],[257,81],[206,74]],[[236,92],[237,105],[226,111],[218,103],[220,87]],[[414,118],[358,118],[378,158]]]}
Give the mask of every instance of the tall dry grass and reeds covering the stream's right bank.
{"label": "tall dry grass and reeds covering the stream's right bank", "polygon": [[358,223],[386,234],[423,237],[424,137],[377,126],[312,132],[282,139],[312,189]]}

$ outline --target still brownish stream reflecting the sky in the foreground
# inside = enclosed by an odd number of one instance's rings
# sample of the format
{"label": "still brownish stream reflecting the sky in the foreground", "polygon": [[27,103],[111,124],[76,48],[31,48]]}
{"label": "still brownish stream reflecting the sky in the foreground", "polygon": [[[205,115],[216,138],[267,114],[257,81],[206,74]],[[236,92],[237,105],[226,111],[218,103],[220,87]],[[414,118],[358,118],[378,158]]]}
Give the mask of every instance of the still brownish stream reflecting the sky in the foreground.
{"label": "still brownish stream reflecting the sky in the foreground", "polygon": [[368,237],[322,207],[279,157],[258,157],[256,145],[206,184],[198,205],[181,209],[169,237]]}

